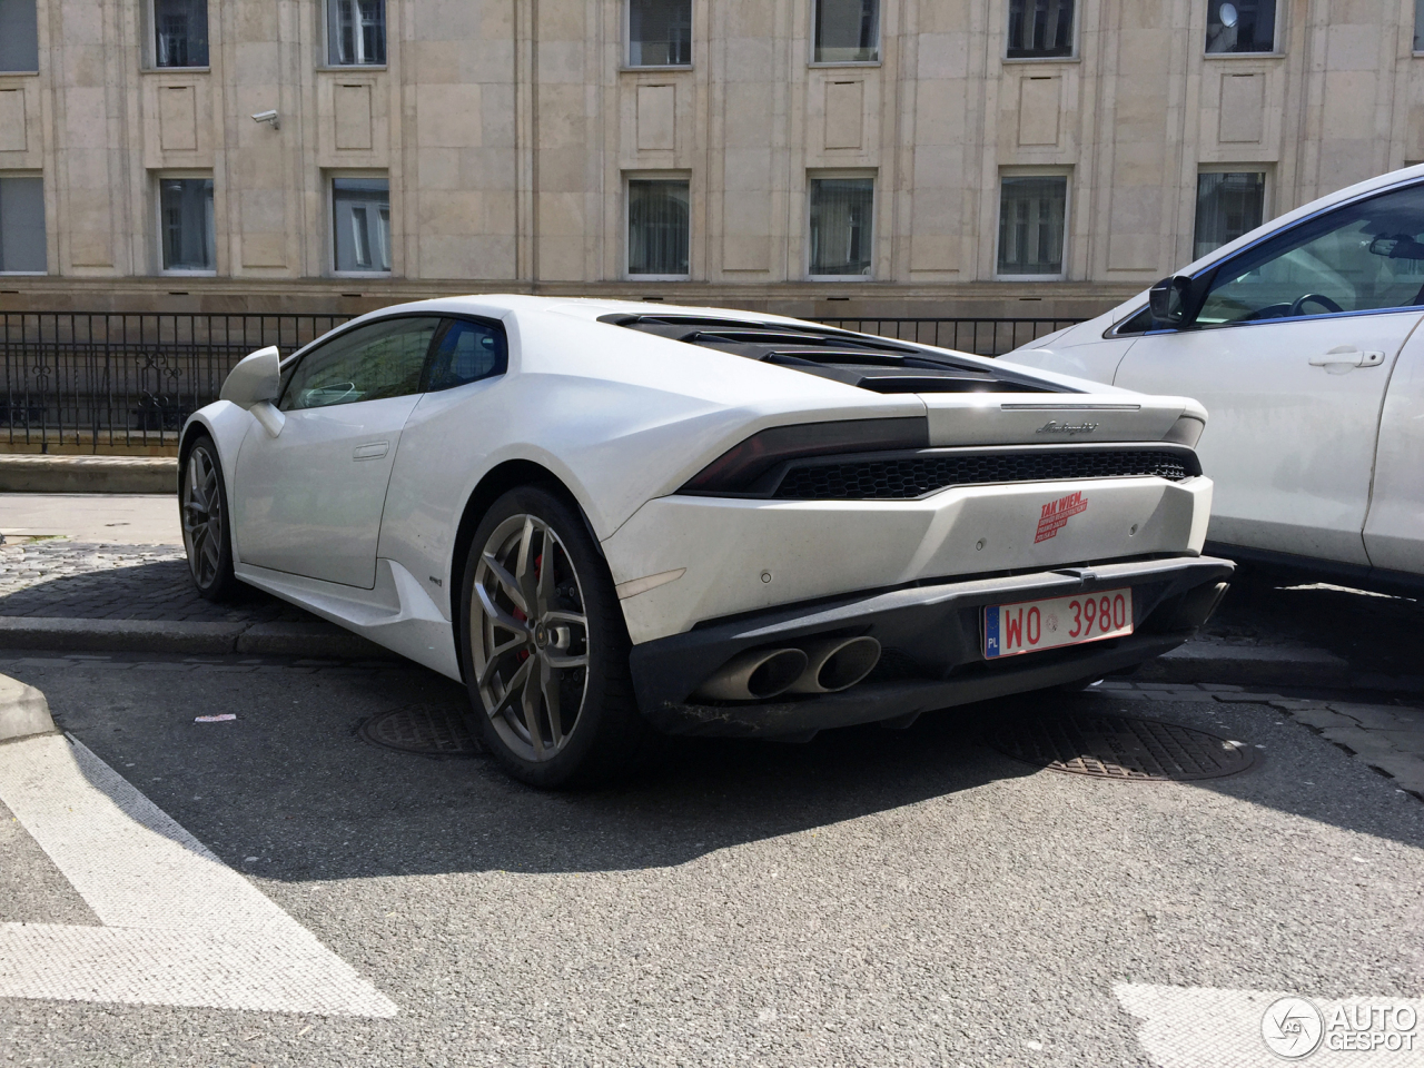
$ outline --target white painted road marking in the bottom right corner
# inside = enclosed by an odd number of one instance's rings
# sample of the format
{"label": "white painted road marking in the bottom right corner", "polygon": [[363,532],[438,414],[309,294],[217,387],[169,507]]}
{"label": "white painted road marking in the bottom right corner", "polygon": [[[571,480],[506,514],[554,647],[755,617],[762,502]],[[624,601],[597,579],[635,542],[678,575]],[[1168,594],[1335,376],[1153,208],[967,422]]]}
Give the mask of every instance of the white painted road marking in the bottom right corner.
{"label": "white painted road marking in the bottom right corner", "polygon": [[[1280,1068],[1262,1040],[1262,1017],[1283,997],[1307,997],[1330,1020],[1337,1010],[1364,1005],[1407,1005],[1418,1017],[1414,1049],[1331,1049],[1327,1041],[1300,1059],[1309,1068],[1396,1068],[1424,1064],[1424,1001],[1407,998],[1349,998],[1330,1001],[1307,993],[1158,987],[1124,983],[1112,988],[1128,1012],[1138,1017],[1138,1041],[1158,1068]],[[1327,1034],[1329,1038],[1329,1034]]]}

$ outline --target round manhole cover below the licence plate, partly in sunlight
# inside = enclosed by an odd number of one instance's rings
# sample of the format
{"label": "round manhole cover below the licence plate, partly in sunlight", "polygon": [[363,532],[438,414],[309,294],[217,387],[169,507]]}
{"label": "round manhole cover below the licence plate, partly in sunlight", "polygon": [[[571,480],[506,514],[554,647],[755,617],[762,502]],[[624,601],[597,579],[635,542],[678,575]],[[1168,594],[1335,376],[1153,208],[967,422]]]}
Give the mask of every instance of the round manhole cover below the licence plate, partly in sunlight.
{"label": "round manhole cover below the licence plate, partly in sunlight", "polygon": [[1088,712],[1005,723],[985,740],[1018,760],[1099,779],[1215,779],[1245,772],[1255,760],[1250,746],[1205,731]]}

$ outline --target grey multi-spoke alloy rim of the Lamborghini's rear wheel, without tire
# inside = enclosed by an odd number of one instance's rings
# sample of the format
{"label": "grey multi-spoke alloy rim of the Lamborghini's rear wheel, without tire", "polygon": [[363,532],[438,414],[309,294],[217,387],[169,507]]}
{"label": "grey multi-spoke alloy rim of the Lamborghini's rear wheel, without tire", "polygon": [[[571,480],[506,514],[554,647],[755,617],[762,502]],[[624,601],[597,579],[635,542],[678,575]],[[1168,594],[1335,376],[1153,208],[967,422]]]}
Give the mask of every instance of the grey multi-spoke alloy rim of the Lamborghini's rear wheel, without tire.
{"label": "grey multi-spoke alloy rim of the Lamborghini's rear wheel, without tire", "polygon": [[484,711],[517,756],[550,760],[568,745],[588,691],[588,645],[568,548],[538,515],[504,520],[476,565],[470,651]]}

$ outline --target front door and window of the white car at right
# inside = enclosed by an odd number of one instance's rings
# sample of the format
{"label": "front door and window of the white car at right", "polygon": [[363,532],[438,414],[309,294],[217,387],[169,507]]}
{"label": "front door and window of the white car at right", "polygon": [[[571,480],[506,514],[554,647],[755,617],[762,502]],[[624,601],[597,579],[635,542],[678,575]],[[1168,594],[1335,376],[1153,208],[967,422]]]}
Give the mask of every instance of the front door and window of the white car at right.
{"label": "front door and window of the white car at right", "polygon": [[1368,564],[1380,407],[1424,315],[1421,239],[1421,185],[1341,205],[1199,273],[1195,316],[1128,350],[1115,384],[1206,406],[1212,541]]}

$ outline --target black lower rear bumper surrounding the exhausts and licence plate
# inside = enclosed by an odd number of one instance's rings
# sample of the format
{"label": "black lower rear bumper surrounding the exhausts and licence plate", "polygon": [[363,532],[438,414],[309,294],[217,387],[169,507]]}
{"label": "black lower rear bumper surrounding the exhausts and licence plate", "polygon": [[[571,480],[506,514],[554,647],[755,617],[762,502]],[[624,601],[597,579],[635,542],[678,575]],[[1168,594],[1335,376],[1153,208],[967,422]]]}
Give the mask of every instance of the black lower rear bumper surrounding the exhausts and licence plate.
{"label": "black lower rear bumper surrounding the exhausts and licence plate", "polygon": [[[1172,649],[1216,607],[1235,565],[1212,557],[1071,567],[1034,574],[918,585],[782,607],[635,645],[638,705],[674,735],[799,735],[901,719],[938,708],[1074,682]],[[1134,634],[1065,649],[985,661],[984,605],[1132,587]],[[765,703],[693,703],[708,675],[745,649],[819,637],[869,635],[884,649],[870,678],[840,693],[778,696]]]}

